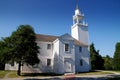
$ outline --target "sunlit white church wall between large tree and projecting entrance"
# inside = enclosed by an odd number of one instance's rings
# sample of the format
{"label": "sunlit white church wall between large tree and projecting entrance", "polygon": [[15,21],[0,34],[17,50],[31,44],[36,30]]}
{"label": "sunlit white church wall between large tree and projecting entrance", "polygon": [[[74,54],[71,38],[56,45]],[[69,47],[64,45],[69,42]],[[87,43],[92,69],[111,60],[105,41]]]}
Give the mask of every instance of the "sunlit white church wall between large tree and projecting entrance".
{"label": "sunlit white church wall between large tree and projecting entrance", "polygon": [[[40,47],[38,58],[40,63],[34,66],[24,64],[22,71],[24,73],[52,73],[53,72],[53,43],[36,41]],[[47,49],[47,45],[51,44],[51,49]],[[51,59],[51,65],[47,65],[47,59]]]}

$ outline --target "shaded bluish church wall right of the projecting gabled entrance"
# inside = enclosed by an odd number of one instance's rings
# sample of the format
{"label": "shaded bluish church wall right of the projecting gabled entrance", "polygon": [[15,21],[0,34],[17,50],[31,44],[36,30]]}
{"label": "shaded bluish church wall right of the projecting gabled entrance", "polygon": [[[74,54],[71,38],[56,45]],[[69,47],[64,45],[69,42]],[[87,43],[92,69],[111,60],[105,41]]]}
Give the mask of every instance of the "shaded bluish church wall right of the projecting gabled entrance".
{"label": "shaded bluish church wall right of the projecting gabled entrance", "polygon": [[[80,65],[82,59],[83,65]],[[79,46],[75,47],[75,68],[76,72],[88,72],[90,70],[90,53],[87,47],[82,47],[82,51],[79,51]]]}

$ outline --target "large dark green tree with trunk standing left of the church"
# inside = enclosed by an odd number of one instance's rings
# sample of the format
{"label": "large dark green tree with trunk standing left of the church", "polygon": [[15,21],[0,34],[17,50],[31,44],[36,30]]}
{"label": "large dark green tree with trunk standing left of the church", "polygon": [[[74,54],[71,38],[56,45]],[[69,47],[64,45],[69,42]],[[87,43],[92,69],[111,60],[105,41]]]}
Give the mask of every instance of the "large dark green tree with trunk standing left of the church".
{"label": "large dark green tree with trunk standing left of the church", "polygon": [[39,53],[39,47],[35,42],[35,33],[30,25],[20,25],[18,29],[13,32],[8,39],[4,39],[4,41],[8,45],[6,53],[10,56],[7,61],[18,63],[18,75],[21,74],[21,64],[27,63],[29,65],[35,65],[39,63],[37,54]]}

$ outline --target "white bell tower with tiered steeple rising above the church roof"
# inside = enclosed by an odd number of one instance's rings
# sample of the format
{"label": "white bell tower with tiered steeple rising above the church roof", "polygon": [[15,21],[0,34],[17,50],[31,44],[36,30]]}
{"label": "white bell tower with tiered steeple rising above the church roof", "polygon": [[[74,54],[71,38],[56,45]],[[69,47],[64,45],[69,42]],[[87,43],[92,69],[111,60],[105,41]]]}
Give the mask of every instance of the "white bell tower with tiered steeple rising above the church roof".
{"label": "white bell tower with tiered steeple rising above the church roof", "polygon": [[83,20],[84,14],[81,13],[78,5],[76,6],[75,14],[73,15],[73,25],[71,27],[71,35],[78,41],[88,45],[88,24]]}

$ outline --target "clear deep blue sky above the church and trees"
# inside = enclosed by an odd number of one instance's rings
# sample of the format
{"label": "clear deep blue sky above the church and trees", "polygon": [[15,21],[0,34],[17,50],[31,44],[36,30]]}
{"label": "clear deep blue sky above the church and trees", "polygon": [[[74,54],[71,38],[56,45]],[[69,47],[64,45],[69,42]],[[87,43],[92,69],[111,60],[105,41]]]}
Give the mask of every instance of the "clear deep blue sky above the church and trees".
{"label": "clear deep blue sky above the church and trees", "polygon": [[89,43],[113,57],[120,42],[120,0],[0,0],[0,38],[26,24],[37,34],[71,34],[76,4],[89,25]]}

